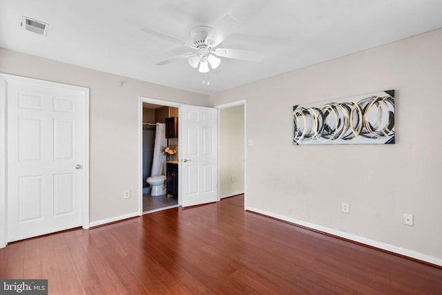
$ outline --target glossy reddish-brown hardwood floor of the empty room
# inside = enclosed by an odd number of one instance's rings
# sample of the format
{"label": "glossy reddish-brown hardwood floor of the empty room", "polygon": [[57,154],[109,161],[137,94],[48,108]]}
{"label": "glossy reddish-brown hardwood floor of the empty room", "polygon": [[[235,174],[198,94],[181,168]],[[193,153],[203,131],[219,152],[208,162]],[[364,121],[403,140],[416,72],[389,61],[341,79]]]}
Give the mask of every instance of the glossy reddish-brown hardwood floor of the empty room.
{"label": "glossy reddish-brown hardwood floor of the empty room", "polygon": [[49,294],[442,294],[442,269],[244,211],[244,198],[0,249]]}

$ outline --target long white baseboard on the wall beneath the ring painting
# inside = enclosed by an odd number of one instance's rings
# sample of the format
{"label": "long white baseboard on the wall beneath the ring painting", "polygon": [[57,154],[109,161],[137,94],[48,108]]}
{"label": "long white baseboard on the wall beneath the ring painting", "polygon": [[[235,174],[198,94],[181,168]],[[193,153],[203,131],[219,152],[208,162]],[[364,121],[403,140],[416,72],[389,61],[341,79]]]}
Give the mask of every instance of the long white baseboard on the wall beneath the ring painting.
{"label": "long white baseboard on the wall beneath the ring painting", "polygon": [[437,257],[434,257],[434,256],[423,254],[423,253],[420,253],[418,251],[414,251],[414,250],[410,250],[410,249],[405,249],[405,248],[402,248],[402,247],[394,246],[394,245],[391,245],[391,244],[387,244],[386,242],[379,242],[377,240],[372,240],[372,239],[369,239],[369,238],[364,238],[363,236],[356,236],[356,235],[353,235],[353,234],[348,234],[345,231],[338,231],[337,229],[331,229],[329,227],[323,227],[321,225],[315,225],[314,223],[311,223],[311,222],[297,220],[295,218],[291,218],[291,217],[287,217],[287,216],[282,216],[282,215],[279,215],[279,214],[271,213],[271,212],[268,212],[268,211],[264,211],[264,210],[253,208],[253,207],[249,207],[249,206],[246,206],[245,209],[249,210],[249,211],[256,212],[256,213],[260,213],[260,214],[265,215],[265,216],[270,216],[270,217],[277,218],[277,219],[280,219],[280,220],[285,220],[287,222],[294,223],[295,225],[300,225],[302,227],[307,227],[309,229],[314,229],[316,231],[322,231],[322,232],[324,232],[326,234],[331,234],[333,236],[338,236],[340,238],[345,238],[347,240],[353,240],[354,242],[360,242],[362,244],[369,245],[369,246],[372,246],[372,247],[375,247],[375,248],[378,248],[378,249],[383,249],[383,250],[390,251],[390,252],[393,252],[393,253],[396,253],[396,254],[401,254],[403,256],[407,256],[407,257],[410,257],[410,258],[422,260],[422,261],[425,261],[427,263],[432,263],[434,265],[442,266],[442,259],[441,258],[437,258]]}

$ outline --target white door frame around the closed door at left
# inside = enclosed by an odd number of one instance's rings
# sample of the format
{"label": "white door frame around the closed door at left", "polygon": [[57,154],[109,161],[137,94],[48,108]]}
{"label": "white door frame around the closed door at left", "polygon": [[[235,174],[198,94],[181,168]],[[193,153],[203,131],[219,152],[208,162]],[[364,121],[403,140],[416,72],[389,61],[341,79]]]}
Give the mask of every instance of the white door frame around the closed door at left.
{"label": "white door frame around the closed door at left", "polygon": [[7,119],[7,108],[6,108],[6,82],[27,82],[38,84],[39,86],[46,87],[57,87],[65,88],[75,91],[81,91],[84,93],[84,102],[82,108],[84,111],[83,120],[83,159],[82,159],[82,170],[84,171],[82,176],[82,181],[84,182],[84,189],[82,191],[81,200],[81,224],[84,229],[89,228],[89,88],[73,86],[68,84],[61,84],[57,82],[49,82],[40,79],[33,79],[28,77],[20,77],[16,75],[8,75],[0,73],[0,248],[6,247],[8,245],[8,198],[7,193],[7,183],[8,175],[6,173],[7,161],[8,161],[8,151],[6,149],[7,137],[6,137],[6,119]]}

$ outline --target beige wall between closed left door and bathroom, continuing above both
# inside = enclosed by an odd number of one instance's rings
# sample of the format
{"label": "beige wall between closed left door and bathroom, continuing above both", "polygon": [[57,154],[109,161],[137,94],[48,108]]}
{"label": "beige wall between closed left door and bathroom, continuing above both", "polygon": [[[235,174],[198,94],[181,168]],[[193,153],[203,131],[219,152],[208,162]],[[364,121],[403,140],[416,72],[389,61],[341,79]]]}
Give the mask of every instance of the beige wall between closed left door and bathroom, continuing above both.
{"label": "beige wall between closed left door and bathroom, continuing above both", "polygon": [[[90,88],[90,222],[139,211],[139,97],[207,106],[207,96],[0,48],[0,73]],[[126,81],[122,86],[119,82]],[[123,199],[124,189],[131,198]]]}

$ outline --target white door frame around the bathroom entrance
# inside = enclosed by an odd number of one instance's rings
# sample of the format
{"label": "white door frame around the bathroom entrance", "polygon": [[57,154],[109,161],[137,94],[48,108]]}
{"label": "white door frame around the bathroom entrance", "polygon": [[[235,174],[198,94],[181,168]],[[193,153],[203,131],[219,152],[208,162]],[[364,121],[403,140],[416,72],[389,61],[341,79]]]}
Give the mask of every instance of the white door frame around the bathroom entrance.
{"label": "white door frame around the bathroom entrance", "polygon": [[[138,209],[140,211],[140,216],[143,215],[143,102],[148,104],[158,104],[160,106],[173,106],[178,108],[178,114],[181,109],[181,105],[177,102],[169,102],[166,100],[149,98],[149,97],[138,97]],[[179,116],[179,115],[178,115]],[[180,126],[178,126],[180,128]],[[179,134],[179,132],[178,132]],[[178,146],[180,146],[180,137],[178,137]],[[180,149],[178,149],[178,158],[180,158]],[[181,173],[180,173],[180,161],[178,161],[178,183],[180,183]],[[178,204],[180,202],[180,192],[178,192]]]}

